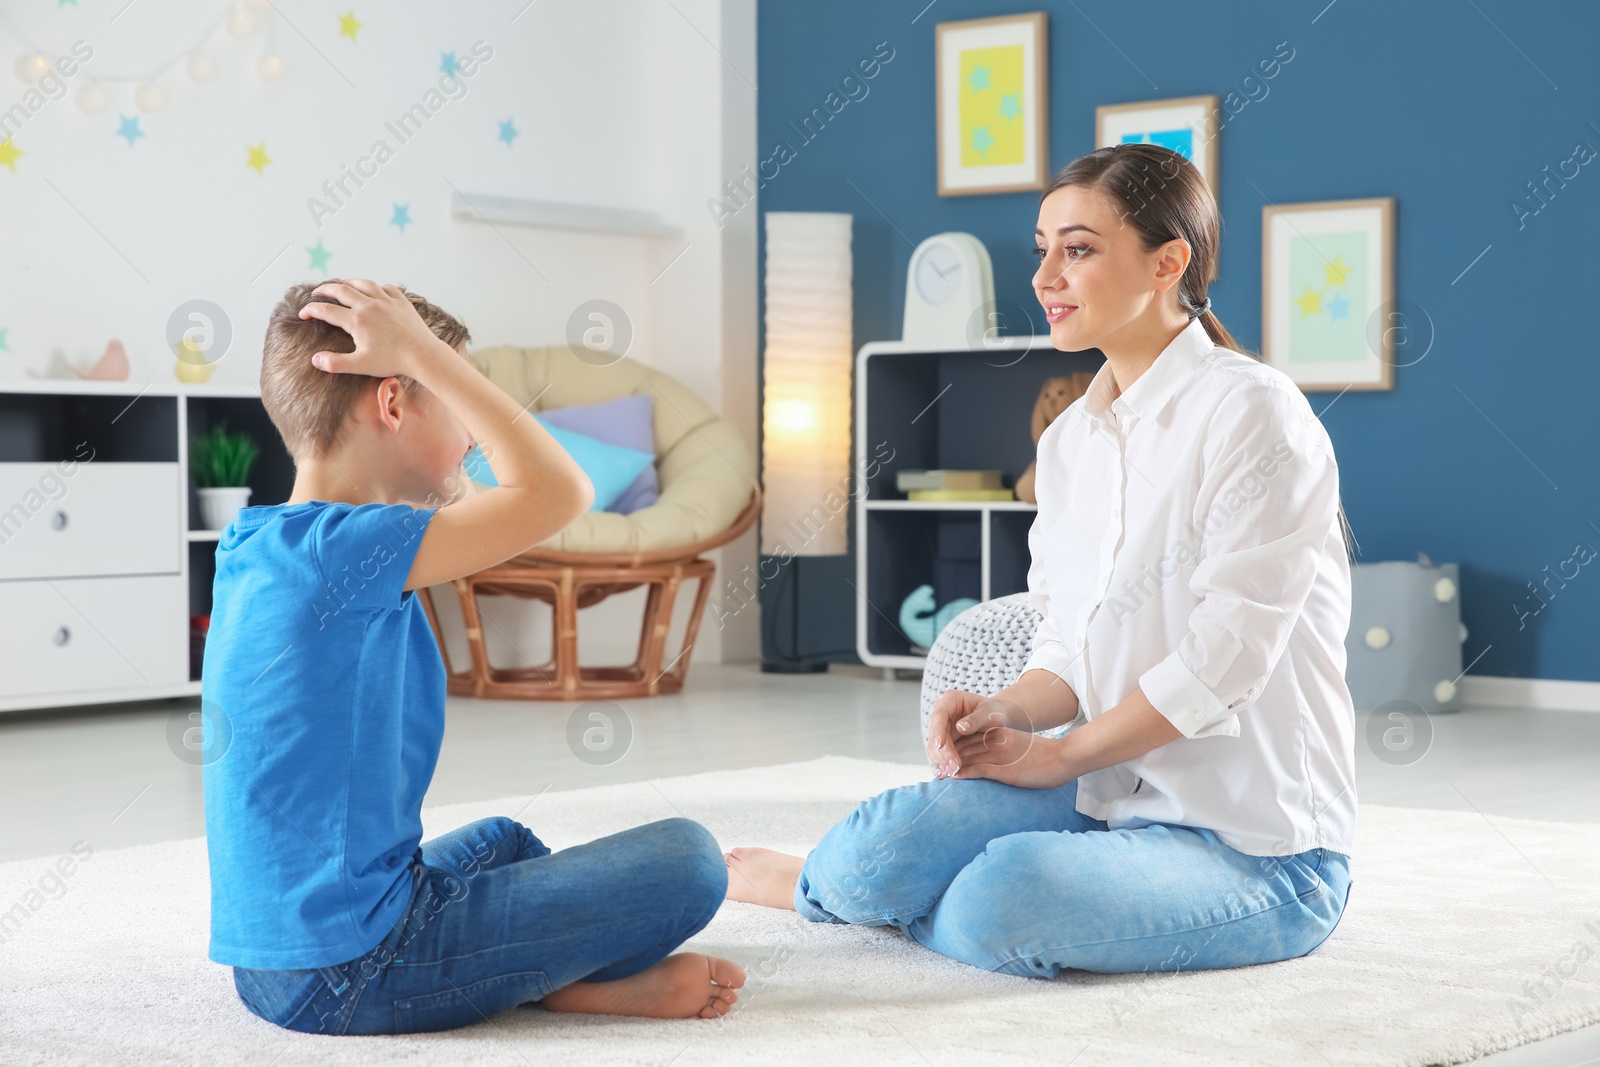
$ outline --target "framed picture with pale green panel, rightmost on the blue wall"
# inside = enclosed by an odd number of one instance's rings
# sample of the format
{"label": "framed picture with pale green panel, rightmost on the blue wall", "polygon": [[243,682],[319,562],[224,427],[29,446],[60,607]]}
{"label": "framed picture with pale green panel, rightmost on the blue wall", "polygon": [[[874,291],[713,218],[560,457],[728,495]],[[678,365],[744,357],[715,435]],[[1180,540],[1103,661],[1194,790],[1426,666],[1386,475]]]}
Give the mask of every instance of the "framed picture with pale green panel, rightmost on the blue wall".
{"label": "framed picture with pale green panel, rightmost on the blue wall", "polygon": [[1306,392],[1394,389],[1394,197],[1261,210],[1261,355]]}

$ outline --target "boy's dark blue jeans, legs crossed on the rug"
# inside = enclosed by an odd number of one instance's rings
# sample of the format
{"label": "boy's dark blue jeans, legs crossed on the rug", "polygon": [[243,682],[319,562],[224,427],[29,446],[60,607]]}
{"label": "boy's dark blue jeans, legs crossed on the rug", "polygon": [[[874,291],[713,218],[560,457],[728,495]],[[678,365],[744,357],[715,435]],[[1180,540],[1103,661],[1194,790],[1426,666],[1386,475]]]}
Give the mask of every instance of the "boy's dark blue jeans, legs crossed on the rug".
{"label": "boy's dark blue jeans, legs crossed on the rug", "polygon": [[664,819],[552,853],[482,819],[424,841],[405,918],[371,952],[304,971],[234,968],[254,1014],[306,1033],[448,1030],[571,982],[654,966],[728,888],[717,840]]}

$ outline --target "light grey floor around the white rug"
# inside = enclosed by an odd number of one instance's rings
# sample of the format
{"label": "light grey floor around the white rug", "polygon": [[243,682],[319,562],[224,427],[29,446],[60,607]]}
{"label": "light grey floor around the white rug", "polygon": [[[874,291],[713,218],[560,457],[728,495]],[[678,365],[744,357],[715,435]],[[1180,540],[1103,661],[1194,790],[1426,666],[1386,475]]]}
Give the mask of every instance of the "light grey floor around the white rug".
{"label": "light grey floor around the white rug", "polygon": [[[917,707],[915,680],[878,670],[768,675],[754,665],[715,664],[696,664],[686,693],[653,701],[450,697],[427,803],[821,755],[920,763]],[[0,811],[6,813],[0,861],[59,854],[77,840],[118,848],[202,833],[200,768],[184,747],[197,709],[198,701],[187,699],[0,715]],[[1424,755],[1395,763],[1379,758],[1387,753],[1381,742],[1368,744],[1362,717],[1355,750],[1363,803],[1600,822],[1600,715],[1466,709],[1427,726],[1429,742],[1410,750],[1426,749]],[[586,731],[592,731],[587,747]],[[525,821],[536,825],[531,816]],[[1526,861],[1507,840],[1496,862]],[[1482,1062],[1600,1064],[1600,1025]]]}

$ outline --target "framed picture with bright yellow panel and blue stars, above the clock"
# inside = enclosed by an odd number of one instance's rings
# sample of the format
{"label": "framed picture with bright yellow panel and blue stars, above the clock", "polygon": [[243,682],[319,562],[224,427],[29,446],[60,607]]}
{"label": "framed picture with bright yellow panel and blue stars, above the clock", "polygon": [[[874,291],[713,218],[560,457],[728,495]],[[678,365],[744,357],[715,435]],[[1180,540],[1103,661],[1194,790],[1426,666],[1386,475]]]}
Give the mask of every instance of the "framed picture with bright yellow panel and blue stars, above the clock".
{"label": "framed picture with bright yellow panel and blue stars, above the clock", "polygon": [[1046,32],[1043,11],[934,27],[941,197],[1045,187]]}

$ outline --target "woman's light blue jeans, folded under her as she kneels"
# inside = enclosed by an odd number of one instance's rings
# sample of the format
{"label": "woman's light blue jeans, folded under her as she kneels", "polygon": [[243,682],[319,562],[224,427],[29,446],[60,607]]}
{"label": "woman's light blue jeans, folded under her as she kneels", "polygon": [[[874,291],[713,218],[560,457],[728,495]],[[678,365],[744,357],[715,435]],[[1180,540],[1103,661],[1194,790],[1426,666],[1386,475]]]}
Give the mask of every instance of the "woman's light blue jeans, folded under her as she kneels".
{"label": "woman's light blue jeans, folded under her as she kneels", "polygon": [[1110,830],[1077,811],[1077,792],[944,779],[878,793],[806,857],[795,910],[1040,977],[1288,960],[1344,913],[1344,853],[1250,856],[1195,827]]}

